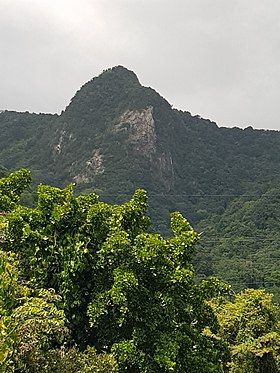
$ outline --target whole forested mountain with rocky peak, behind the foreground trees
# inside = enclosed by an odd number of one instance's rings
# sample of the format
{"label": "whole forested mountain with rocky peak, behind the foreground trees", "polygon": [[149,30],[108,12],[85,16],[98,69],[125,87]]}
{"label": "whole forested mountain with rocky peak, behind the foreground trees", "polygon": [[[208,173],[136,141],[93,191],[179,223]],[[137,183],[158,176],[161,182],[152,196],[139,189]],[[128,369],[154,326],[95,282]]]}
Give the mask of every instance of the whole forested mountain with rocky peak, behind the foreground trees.
{"label": "whole forested mountain with rocky peak, behind the foreground trees", "polygon": [[75,182],[106,202],[144,188],[155,230],[168,235],[178,210],[203,232],[199,277],[280,299],[279,132],[178,111],[121,66],[86,83],[60,115],[1,112],[0,131],[4,168],[30,169],[35,184]]}

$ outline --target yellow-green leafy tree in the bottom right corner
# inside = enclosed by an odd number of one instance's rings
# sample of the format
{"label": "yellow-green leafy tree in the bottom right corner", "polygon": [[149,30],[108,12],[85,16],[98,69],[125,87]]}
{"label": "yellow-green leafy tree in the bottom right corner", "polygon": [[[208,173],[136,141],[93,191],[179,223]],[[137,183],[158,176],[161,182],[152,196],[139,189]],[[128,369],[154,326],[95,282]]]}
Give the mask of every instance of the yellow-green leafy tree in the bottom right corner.
{"label": "yellow-green leafy tree in the bottom right corner", "polygon": [[271,294],[246,289],[233,301],[216,302],[214,308],[219,336],[230,344],[232,373],[279,372],[279,308]]}

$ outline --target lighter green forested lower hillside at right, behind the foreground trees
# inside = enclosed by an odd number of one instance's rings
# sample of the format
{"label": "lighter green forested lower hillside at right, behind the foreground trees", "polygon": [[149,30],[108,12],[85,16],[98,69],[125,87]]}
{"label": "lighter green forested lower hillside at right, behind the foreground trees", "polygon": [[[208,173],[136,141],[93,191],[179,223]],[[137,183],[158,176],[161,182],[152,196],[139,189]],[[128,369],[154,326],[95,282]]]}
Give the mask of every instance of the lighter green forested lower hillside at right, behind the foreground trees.
{"label": "lighter green forested lower hillside at right, behind the foreground trees", "polygon": [[272,183],[251,194],[235,198],[221,216],[204,222],[195,264],[200,275],[215,274],[236,291],[265,288],[279,303],[279,189]]}

